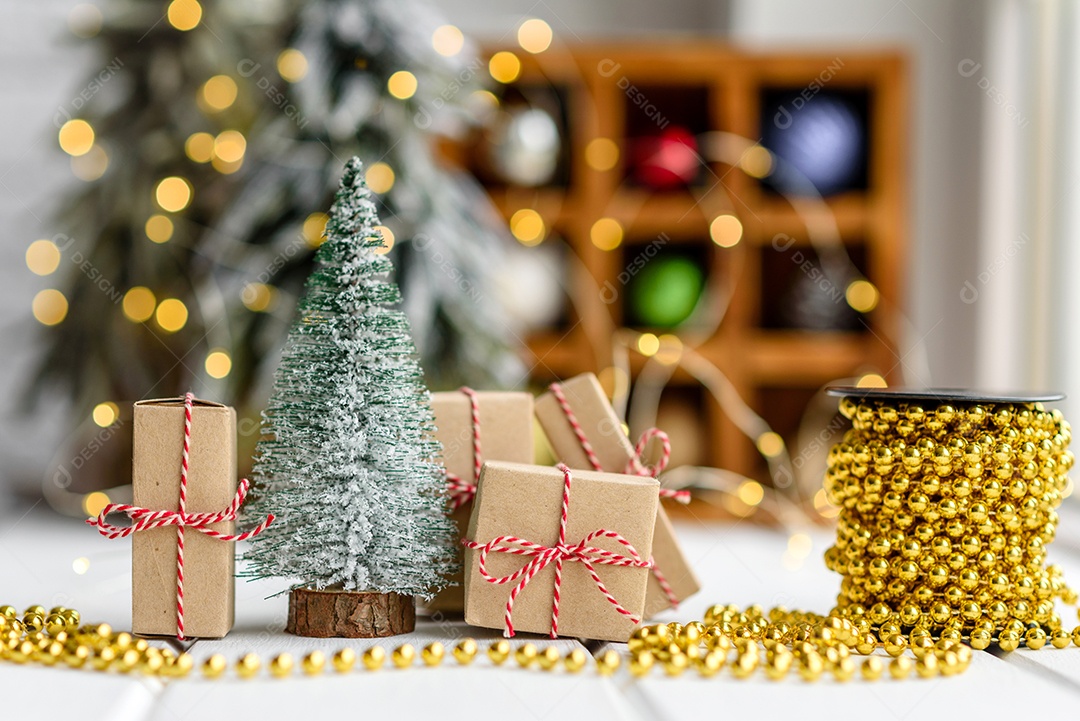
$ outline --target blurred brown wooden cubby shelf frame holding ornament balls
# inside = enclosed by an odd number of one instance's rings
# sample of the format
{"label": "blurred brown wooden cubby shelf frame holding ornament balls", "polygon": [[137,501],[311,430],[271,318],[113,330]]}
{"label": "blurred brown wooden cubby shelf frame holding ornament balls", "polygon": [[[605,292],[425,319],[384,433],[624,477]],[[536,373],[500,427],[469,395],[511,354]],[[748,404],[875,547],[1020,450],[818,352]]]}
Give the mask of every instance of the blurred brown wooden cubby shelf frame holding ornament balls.
{"label": "blurred brown wooden cubby shelf frame holding ornament balls", "polygon": [[[569,172],[565,187],[492,187],[490,194],[508,219],[521,208],[534,208],[549,232],[557,231],[566,240],[581,260],[567,269],[580,294],[595,293],[605,283],[617,284],[635,246],[664,233],[672,247],[694,247],[710,259],[710,273],[731,284],[730,304],[723,322],[707,337],[692,328],[639,330],[678,335],[723,369],[758,412],[768,417],[764,396],[775,389],[806,393],[835,379],[865,372],[878,372],[890,383],[900,379],[896,339],[902,330],[900,310],[904,308],[908,114],[905,63],[900,53],[770,53],[679,40],[582,43],[538,55],[492,46],[486,49],[486,56],[499,51],[513,52],[522,63],[513,84],[557,87],[566,99],[568,137],[564,141],[569,144]],[[627,128],[640,123],[631,113],[642,112],[627,95],[627,83],[646,97],[651,92],[669,101],[681,92],[700,101],[703,92],[704,130],[757,140],[762,89],[812,89],[815,82],[822,85],[821,91],[866,91],[869,97],[867,189],[826,198],[841,242],[862,246],[863,271],[880,291],[881,302],[865,316],[867,328],[863,331],[761,327],[761,254],[770,251],[778,233],[792,236],[794,248],[807,247],[807,236],[799,214],[785,199],[764,189],[758,179],[738,166],[710,162],[702,182],[653,192],[627,181],[624,172]],[[658,104],[658,112],[666,114],[669,110],[677,108]],[[585,161],[586,146],[597,138],[612,139],[620,148],[620,161],[611,169],[595,169]],[[743,223],[743,239],[734,247],[721,248],[710,240],[710,222],[720,213],[733,213]],[[591,243],[590,230],[600,218],[615,218],[624,228],[620,248],[602,250]],[[572,328],[550,329],[529,339],[538,383],[604,370],[605,359],[611,357],[607,328],[610,323],[617,327],[622,324],[622,299],[592,305],[595,308],[575,308],[580,322]],[[643,363],[634,356],[634,373]],[[673,383],[686,385],[691,380],[677,372]],[[760,476],[764,466],[753,441],[742,436],[711,397],[704,405],[705,460]],[[785,440],[789,446],[794,441],[791,437]],[[673,441],[677,444],[678,438]]]}

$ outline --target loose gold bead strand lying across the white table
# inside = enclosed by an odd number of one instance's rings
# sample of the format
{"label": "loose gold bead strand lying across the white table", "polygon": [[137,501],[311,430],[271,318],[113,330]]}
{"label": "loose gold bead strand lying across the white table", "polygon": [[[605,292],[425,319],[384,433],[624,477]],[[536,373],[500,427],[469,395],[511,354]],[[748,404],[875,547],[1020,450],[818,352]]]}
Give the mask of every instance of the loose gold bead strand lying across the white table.
{"label": "loose gold bead strand lying across the white table", "polygon": [[[758,607],[740,610],[734,606],[713,606],[704,622],[643,626],[627,642],[630,654],[625,663],[617,651],[607,650],[593,661],[593,668],[599,676],[611,676],[625,667],[634,677],[661,669],[670,677],[696,671],[703,678],[712,678],[727,667],[735,679],[752,678],[760,670],[774,681],[797,675],[805,681],[833,678],[845,682],[856,674],[866,681],[876,681],[883,678],[886,669],[893,679],[907,678],[913,671],[919,678],[953,676],[962,672],[971,661],[971,647],[956,637],[945,635],[935,641],[929,630],[918,627],[906,635],[897,631],[879,640],[865,615],[841,613],[837,610],[820,616],[785,609],[766,613]],[[44,623],[46,616],[54,615],[52,624]],[[32,630],[39,626],[39,617],[42,630]],[[0,661],[64,664],[103,672],[141,672],[166,678],[187,677],[194,667],[189,653],[149,645],[145,639],[129,632],[113,631],[108,624],[79,624],[79,612],[62,607],[48,614],[40,607],[30,607],[22,617],[13,607],[0,607]],[[1041,637],[1034,630],[1037,629],[1029,629],[1023,636],[1031,648],[1044,643],[1056,649],[1070,643],[1080,645],[1080,627],[1071,634],[1057,629]],[[1002,648],[1010,650],[1010,639],[1018,644],[1021,638],[1018,634],[1007,637]],[[877,649],[883,649],[892,656],[891,661],[869,655]],[[867,658],[858,664],[854,655],[860,654]],[[417,655],[410,643],[395,647],[390,654],[382,647],[373,645],[359,657],[353,649],[342,648],[334,653],[330,665],[338,674],[348,674],[360,659],[363,668],[375,671],[384,667],[389,658],[397,668],[418,668]],[[460,640],[450,654],[438,641],[419,652],[422,665],[428,667],[441,666],[447,657],[468,666],[480,655],[480,645],[472,638]],[[514,647],[504,639],[492,641],[486,655],[491,666],[501,666],[513,658],[514,665],[522,669],[549,672],[562,669],[568,674],[585,670],[590,661],[581,649],[571,649],[563,655],[556,647],[541,650],[528,641]],[[262,672],[264,664],[257,654],[246,653],[231,668],[238,678],[252,679]],[[202,663],[206,679],[221,678],[229,669],[230,664],[221,654],[213,654]],[[306,676],[320,676],[326,669],[325,654],[319,650],[305,654],[300,669]],[[275,679],[295,676],[293,655],[273,656],[266,670]]]}

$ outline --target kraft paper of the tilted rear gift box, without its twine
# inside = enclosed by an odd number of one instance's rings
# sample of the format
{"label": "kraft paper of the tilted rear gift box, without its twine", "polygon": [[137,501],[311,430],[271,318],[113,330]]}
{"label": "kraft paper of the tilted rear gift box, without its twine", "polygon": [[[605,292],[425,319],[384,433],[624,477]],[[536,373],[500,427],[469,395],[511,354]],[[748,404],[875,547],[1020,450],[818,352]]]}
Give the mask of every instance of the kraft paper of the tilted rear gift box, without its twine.
{"label": "kraft paper of the tilted rear gift box, without its twine", "polygon": [[[599,460],[600,468],[611,473],[626,472],[635,457],[634,446],[622,430],[618,414],[593,373],[582,373],[559,384],[585,438]],[[592,468],[589,454],[582,448],[573,426],[555,395],[548,391],[536,400],[537,419],[543,427],[555,457],[571,468]],[[657,528],[652,541],[656,568],[670,585],[678,601],[685,601],[701,589],[701,584],[679,547],[663,506],[657,507]],[[672,608],[671,599],[653,573],[649,577],[645,617]]]}

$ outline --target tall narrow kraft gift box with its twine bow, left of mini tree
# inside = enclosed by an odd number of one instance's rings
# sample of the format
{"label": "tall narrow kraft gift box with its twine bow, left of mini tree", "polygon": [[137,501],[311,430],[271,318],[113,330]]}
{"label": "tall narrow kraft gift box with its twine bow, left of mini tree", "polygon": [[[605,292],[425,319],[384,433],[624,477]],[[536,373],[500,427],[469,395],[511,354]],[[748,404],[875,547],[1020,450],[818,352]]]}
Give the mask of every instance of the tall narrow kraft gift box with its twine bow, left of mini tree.
{"label": "tall narrow kraft gift box with its twine bow, left of mini tree", "polygon": [[[135,404],[131,504],[107,505],[86,522],[109,539],[132,538],[132,631],[221,638],[234,615],[233,533],[248,481],[237,482],[237,413],[183,398]],[[106,521],[124,514],[130,526]]]}

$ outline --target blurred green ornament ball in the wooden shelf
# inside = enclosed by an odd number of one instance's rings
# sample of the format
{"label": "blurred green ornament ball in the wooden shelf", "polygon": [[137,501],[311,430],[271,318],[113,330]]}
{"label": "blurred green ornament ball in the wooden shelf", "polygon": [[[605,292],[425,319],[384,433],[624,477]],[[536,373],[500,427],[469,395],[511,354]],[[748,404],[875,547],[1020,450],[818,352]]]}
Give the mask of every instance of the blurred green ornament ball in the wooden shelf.
{"label": "blurred green ornament ball in the wooden shelf", "polygon": [[689,258],[657,258],[631,285],[631,313],[645,327],[677,326],[690,317],[704,286],[704,271]]}

